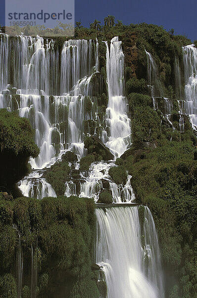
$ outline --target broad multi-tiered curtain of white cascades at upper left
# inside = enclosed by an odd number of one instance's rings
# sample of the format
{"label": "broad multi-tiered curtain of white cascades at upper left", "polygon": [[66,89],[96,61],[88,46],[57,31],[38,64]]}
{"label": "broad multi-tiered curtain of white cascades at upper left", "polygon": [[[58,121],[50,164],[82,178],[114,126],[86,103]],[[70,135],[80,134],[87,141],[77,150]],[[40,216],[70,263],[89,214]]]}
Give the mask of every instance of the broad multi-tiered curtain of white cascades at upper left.
{"label": "broad multi-tiered curtain of white cascades at upper left", "polygon": [[[95,61],[92,57],[94,47]],[[0,56],[3,57],[0,61],[0,108],[18,110],[35,129],[40,154],[30,160],[32,168],[49,167],[68,149],[75,151],[79,158],[84,156],[84,121],[95,118],[93,102],[91,111],[85,111],[85,95],[89,95],[92,74],[99,66],[98,49],[98,42],[69,40],[59,55],[53,40],[27,36],[11,39],[0,34]],[[61,74],[60,85],[58,73]],[[14,88],[8,85],[9,81]],[[58,93],[63,95],[55,95]],[[21,182],[20,188],[25,195],[35,196],[35,183],[37,188],[38,185],[39,189],[43,188],[38,198],[55,196],[42,175],[30,175]]]}

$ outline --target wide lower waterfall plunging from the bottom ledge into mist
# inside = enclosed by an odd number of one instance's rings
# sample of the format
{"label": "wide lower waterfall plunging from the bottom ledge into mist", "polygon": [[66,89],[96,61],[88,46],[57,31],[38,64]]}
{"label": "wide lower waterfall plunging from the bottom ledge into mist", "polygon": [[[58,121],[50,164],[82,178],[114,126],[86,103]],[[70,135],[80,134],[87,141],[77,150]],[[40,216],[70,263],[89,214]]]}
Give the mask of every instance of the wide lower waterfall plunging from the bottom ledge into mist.
{"label": "wide lower waterfall plunging from the bottom ledge into mist", "polygon": [[96,263],[107,298],[164,298],[157,233],[148,207],[96,209]]}

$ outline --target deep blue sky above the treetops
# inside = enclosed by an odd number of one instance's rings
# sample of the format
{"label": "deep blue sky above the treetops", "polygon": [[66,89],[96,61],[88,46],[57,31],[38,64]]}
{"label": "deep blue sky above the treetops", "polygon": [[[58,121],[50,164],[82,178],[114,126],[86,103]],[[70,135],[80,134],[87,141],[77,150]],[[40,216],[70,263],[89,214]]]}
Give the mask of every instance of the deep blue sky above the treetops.
{"label": "deep blue sky above the treetops", "polygon": [[[0,0],[0,24],[3,2]],[[175,34],[197,40],[197,0],[75,0],[75,20],[84,26],[95,19],[103,22],[108,14],[125,24],[146,22],[174,28]]]}

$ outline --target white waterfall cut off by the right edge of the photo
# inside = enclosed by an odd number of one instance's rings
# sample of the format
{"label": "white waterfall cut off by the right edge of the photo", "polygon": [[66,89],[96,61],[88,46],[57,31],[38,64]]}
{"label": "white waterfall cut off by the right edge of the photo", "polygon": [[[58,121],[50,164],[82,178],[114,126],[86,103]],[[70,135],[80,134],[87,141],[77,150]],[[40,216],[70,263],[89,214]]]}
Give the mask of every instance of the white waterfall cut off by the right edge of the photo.
{"label": "white waterfall cut off by the right edge of the photo", "polygon": [[185,77],[185,112],[193,129],[197,130],[197,48],[192,44],[183,47]]}

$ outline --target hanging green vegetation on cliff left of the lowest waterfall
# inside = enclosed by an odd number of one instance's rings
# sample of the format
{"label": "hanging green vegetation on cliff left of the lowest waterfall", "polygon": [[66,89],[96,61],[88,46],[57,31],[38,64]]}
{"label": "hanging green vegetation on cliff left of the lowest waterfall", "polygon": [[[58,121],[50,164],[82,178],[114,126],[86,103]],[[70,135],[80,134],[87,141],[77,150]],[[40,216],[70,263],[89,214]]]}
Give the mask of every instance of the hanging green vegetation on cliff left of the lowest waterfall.
{"label": "hanging green vegetation on cliff left of the lowest waterfall", "polygon": [[92,199],[0,200],[0,297],[3,298],[17,297],[13,273],[19,236],[13,226],[20,232],[24,264],[29,264],[25,269],[23,298],[29,297],[31,289],[32,248],[39,277],[38,298],[82,297],[82,291],[83,297],[99,297],[91,270],[96,228]]}

